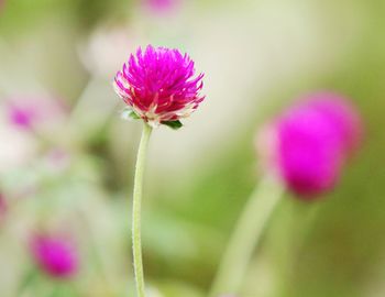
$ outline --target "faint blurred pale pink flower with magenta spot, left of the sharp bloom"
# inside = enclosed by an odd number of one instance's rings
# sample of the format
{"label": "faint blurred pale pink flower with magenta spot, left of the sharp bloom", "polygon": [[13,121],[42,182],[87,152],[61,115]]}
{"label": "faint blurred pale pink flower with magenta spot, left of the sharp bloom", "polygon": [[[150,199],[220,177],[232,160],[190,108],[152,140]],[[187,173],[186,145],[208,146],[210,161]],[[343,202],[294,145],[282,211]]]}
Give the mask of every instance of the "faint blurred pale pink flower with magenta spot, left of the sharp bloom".
{"label": "faint blurred pale pink flower with magenta spot, left of the sharp bloom", "polygon": [[14,127],[30,130],[62,120],[65,107],[54,98],[21,96],[9,98],[7,112]]}

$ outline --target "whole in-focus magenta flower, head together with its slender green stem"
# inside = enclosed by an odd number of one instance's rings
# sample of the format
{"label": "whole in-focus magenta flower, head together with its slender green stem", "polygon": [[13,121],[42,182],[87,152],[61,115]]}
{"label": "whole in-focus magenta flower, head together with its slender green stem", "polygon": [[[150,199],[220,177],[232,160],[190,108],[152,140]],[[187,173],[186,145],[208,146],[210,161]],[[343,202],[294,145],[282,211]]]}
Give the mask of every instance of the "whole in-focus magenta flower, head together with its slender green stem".
{"label": "whole in-focus magenta flower, head together with its slender green stem", "polygon": [[138,297],[145,297],[141,243],[141,204],[143,174],[148,140],[153,128],[168,125],[179,129],[204,101],[200,96],[204,74],[195,75],[195,64],[178,50],[139,48],[117,73],[113,87],[127,105],[122,118],[143,120],[142,140],[138,151],[133,207],[132,241]]}

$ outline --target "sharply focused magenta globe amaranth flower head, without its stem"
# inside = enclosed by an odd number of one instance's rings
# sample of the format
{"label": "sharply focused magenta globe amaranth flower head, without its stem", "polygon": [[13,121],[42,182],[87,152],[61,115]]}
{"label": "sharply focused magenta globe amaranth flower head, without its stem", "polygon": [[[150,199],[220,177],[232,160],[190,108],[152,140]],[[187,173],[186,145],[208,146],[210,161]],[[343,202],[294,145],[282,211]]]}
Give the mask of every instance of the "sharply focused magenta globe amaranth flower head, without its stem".
{"label": "sharply focused magenta globe amaranth flower head, without its stem", "polygon": [[205,99],[199,94],[202,78],[204,74],[195,75],[195,64],[187,54],[148,45],[130,56],[116,76],[114,88],[131,109],[130,117],[158,127],[178,123],[198,108]]}

